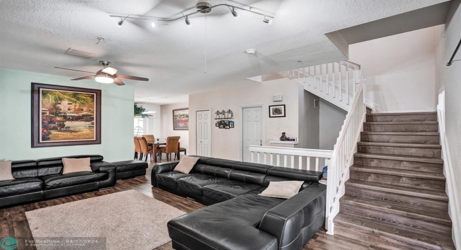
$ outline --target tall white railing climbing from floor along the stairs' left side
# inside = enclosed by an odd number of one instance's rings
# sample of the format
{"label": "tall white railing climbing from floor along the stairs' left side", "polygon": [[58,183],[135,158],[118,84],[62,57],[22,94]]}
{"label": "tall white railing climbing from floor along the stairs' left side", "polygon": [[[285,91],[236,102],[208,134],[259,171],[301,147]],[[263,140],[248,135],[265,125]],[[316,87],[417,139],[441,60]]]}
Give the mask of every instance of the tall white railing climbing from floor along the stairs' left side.
{"label": "tall white railing climbing from floor along the stairs' left side", "polygon": [[361,78],[356,93],[351,102],[349,112],[341,128],[340,136],[333,148],[330,164],[328,165],[327,179],[327,233],[334,233],[333,219],[340,210],[339,200],[344,195],[346,178],[349,166],[353,164],[353,154],[356,151],[362,125],[365,119],[366,106],[364,103],[363,86],[365,78]]}

